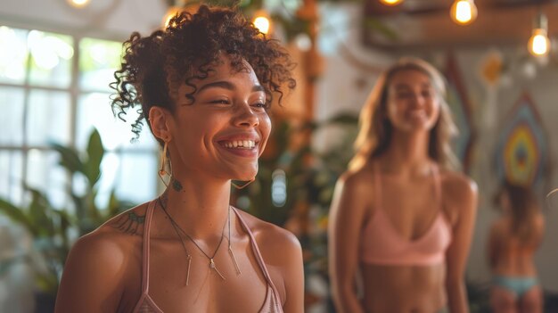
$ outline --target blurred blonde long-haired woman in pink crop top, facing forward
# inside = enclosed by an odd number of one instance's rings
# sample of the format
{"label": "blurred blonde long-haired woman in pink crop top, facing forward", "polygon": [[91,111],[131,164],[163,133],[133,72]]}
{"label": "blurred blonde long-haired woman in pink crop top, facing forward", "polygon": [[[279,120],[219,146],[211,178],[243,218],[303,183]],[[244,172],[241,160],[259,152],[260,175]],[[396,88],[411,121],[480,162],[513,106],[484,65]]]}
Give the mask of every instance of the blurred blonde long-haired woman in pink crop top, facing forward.
{"label": "blurred blonde long-haired woman in pink crop top, facing forward", "polygon": [[455,126],[444,80],[401,59],[360,115],[357,153],[330,212],[338,312],[467,312],[464,268],[477,207],[474,182],[451,170]]}

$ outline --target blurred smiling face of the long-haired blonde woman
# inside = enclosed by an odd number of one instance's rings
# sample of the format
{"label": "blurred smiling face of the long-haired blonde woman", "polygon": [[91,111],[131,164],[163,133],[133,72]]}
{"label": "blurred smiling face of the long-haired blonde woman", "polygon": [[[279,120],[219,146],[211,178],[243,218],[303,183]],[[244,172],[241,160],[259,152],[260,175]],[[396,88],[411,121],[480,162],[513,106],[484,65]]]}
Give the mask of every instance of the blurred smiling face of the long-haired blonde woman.
{"label": "blurred smiling face of the long-haired blonde woman", "polygon": [[439,118],[439,97],[431,78],[419,70],[399,70],[388,86],[387,114],[394,130],[430,130]]}

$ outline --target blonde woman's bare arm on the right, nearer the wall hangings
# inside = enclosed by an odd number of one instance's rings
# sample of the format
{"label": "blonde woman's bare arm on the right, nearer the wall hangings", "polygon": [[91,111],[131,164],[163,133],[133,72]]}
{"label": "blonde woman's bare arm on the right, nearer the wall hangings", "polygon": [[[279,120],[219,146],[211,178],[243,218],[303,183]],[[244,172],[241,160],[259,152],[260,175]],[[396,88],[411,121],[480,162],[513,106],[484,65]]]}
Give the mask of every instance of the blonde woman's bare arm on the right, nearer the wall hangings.
{"label": "blonde woman's bare arm on the right, nearer the wall hangings", "polygon": [[446,252],[447,300],[452,313],[469,311],[464,284],[464,270],[471,248],[472,232],[477,212],[477,186],[465,177],[452,177],[447,196],[456,210],[452,242]]}

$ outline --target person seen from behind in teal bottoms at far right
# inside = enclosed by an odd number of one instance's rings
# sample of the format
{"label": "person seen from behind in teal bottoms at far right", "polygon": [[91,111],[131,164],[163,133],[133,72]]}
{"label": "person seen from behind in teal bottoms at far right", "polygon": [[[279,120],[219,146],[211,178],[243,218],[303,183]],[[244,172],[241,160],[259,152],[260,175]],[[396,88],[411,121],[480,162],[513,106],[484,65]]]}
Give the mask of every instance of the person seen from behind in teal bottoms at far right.
{"label": "person seen from behind in teal bottoms at far right", "polygon": [[533,257],[545,223],[537,198],[529,187],[506,180],[496,203],[502,214],[490,227],[488,239],[492,309],[496,313],[542,312],[543,295]]}

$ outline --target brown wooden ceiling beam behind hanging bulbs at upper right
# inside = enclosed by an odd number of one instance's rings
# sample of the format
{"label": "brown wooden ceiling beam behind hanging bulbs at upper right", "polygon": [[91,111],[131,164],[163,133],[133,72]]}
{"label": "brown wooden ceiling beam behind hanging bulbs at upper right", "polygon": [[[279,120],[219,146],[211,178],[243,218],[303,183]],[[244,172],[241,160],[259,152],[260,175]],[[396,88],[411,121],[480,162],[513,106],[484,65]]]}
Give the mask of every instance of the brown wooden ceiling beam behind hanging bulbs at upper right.
{"label": "brown wooden ceiling beam behind hanging bulbs at upper right", "polygon": [[451,21],[448,10],[420,15],[389,15],[374,18],[393,29],[397,40],[375,29],[364,31],[365,45],[388,50],[400,48],[459,47],[472,45],[526,45],[539,8],[548,18],[548,36],[558,37],[558,2],[479,9],[477,20],[467,26]]}

